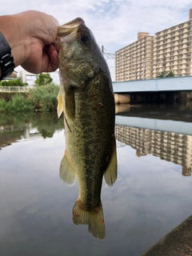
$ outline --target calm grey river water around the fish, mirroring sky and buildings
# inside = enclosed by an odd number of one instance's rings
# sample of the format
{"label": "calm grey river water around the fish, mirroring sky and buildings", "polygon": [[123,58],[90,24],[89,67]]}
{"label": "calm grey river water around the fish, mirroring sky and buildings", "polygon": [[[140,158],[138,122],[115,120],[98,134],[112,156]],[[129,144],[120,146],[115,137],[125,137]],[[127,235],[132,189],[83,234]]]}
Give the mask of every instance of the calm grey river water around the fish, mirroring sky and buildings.
{"label": "calm grey river water around the fish, mirroring sky and buildings", "polygon": [[75,226],[59,178],[62,118],[0,114],[0,255],[138,256],[192,214],[192,108],[118,106],[118,180],[103,181],[106,238]]}

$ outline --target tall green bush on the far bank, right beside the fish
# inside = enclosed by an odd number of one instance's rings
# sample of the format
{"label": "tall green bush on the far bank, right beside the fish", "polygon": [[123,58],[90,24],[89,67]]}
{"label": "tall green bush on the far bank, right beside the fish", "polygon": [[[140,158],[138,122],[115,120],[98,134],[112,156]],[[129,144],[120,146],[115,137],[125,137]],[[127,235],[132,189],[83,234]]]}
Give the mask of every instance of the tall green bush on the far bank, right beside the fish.
{"label": "tall green bush on the far bank, right beside the fish", "polygon": [[52,83],[30,90],[29,98],[30,101],[33,102],[35,109],[41,109],[42,111],[53,111],[57,110],[58,92],[59,86]]}

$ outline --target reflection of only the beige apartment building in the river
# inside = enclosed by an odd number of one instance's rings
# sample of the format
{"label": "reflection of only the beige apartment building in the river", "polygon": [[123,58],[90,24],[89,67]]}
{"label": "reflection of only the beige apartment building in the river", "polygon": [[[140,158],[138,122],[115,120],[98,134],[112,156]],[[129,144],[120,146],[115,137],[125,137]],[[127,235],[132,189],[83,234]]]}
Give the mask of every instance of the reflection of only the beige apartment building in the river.
{"label": "reflection of only the beige apartment building in the river", "polygon": [[182,175],[191,175],[191,135],[118,125],[115,134],[118,141],[132,146],[138,157],[153,154],[162,160],[181,165]]}

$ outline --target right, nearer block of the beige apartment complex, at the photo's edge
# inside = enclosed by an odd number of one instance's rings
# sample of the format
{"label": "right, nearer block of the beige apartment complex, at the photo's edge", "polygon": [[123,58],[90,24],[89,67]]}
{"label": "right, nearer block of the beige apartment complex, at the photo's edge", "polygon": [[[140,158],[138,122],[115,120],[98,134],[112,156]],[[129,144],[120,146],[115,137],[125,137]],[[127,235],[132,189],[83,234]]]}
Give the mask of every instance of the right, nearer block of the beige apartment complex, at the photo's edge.
{"label": "right, nearer block of the beige apartment complex, at the photo's edge", "polygon": [[190,20],[154,35],[154,78],[161,72],[174,76],[192,74],[192,9]]}

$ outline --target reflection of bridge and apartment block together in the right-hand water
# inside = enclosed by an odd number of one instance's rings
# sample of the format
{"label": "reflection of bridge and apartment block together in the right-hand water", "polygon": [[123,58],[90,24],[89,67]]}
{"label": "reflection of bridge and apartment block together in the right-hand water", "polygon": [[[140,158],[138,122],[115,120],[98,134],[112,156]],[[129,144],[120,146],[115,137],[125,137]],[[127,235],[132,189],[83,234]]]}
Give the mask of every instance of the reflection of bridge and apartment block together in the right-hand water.
{"label": "reflection of bridge and apartment block together in the right-hand water", "polygon": [[178,102],[168,106],[116,106],[116,113],[119,115],[116,118],[116,138],[134,148],[138,157],[152,154],[167,162],[174,162],[182,166],[183,176],[190,176],[191,109],[191,102]]}

